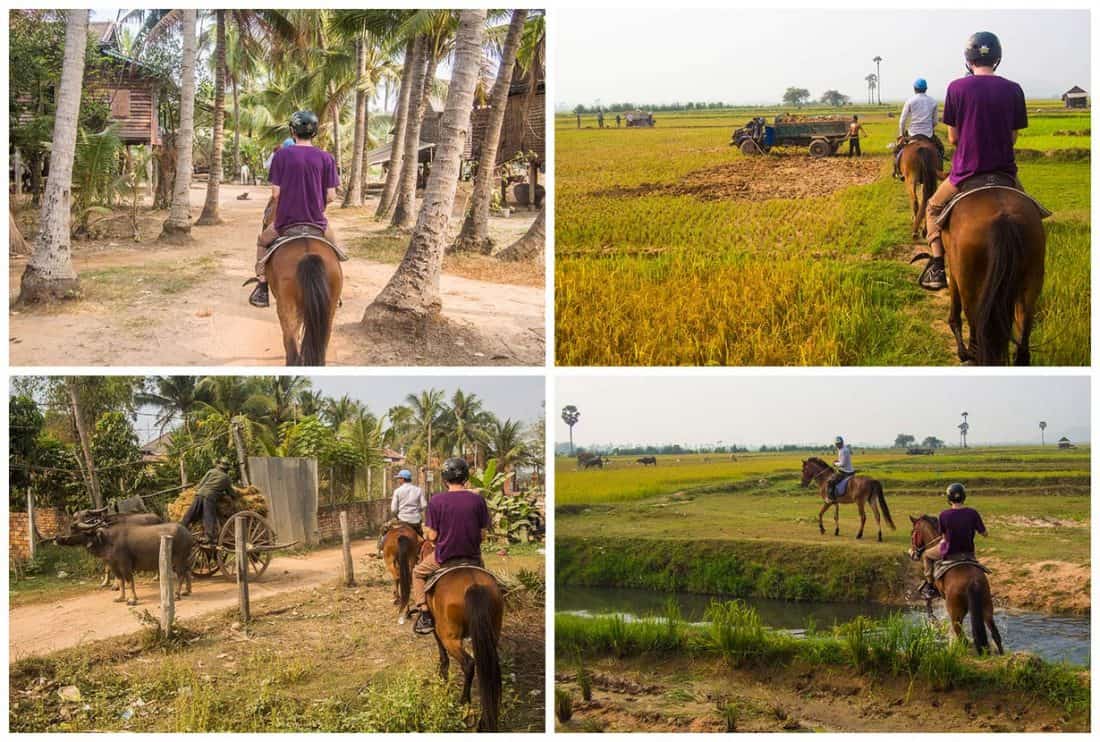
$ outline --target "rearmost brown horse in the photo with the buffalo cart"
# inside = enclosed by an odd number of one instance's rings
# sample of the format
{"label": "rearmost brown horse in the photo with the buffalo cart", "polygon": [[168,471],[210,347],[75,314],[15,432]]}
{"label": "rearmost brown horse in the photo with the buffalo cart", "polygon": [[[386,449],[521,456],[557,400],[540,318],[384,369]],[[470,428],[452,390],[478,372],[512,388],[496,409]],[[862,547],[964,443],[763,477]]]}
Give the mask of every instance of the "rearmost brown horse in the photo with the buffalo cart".
{"label": "rearmost brown horse in the photo with the buffalo cart", "polygon": [[[496,645],[504,621],[504,596],[496,579],[486,572],[466,567],[449,572],[428,593],[428,608],[436,619],[439,674],[447,679],[450,657],[462,664],[464,682],[461,702],[470,702],[470,686],[477,676],[482,713],[477,730],[495,732],[501,722],[501,658]],[[474,656],[466,654],[463,639],[470,639]]]}

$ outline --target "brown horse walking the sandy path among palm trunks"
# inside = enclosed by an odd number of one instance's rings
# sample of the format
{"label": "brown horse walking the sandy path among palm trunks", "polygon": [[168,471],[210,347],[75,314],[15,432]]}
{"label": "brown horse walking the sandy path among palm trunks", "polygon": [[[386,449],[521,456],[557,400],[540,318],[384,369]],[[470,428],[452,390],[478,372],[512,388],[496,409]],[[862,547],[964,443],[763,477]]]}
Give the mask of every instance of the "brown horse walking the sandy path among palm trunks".
{"label": "brown horse walking the sandy path among palm trunks", "polygon": [[[275,219],[273,207],[268,201],[265,229]],[[336,251],[318,237],[302,235],[276,250],[264,274],[283,328],[286,365],[323,366],[343,290]]]}

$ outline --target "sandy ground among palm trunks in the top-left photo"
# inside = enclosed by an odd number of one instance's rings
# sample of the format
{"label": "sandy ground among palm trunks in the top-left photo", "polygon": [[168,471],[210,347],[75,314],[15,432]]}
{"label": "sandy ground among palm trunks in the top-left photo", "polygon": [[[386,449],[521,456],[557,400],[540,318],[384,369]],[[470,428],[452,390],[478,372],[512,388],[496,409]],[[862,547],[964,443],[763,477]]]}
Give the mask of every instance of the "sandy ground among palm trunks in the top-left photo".
{"label": "sandy ground among palm trunks in the top-left photo", "polygon": [[[238,196],[249,191],[248,200]],[[191,189],[201,203],[205,187]],[[282,334],[274,308],[254,309],[241,284],[252,275],[255,233],[266,190],[223,185],[223,224],[193,228],[194,244],[135,245],[116,240],[78,246],[75,265],[85,298],[10,313],[13,365],[282,365]],[[331,210],[333,228],[349,243],[384,242],[382,225],[362,210]],[[494,219],[502,243],[529,219]],[[459,224],[452,224],[457,230]],[[155,234],[154,223],[146,231]],[[391,241],[393,236],[388,237]],[[10,296],[18,296],[25,258],[10,262]],[[444,274],[448,331],[424,339],[367,333],[359,321],[394,272],[392,263],[354,257],[343,265],[343,306],[329,364],[539,365],[544,358],[544,289]]]}

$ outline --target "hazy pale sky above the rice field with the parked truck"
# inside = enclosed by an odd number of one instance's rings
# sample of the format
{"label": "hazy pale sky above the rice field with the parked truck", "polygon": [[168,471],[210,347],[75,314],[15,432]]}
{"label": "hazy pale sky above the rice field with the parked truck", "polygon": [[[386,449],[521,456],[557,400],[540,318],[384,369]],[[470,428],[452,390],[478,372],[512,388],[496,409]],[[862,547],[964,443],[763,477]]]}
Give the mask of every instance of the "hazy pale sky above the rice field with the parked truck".
{"label": "hazy pale sky above the rice field with the parked truck", "polygon": [[1084,10],[576,9],[557,15],[559,106],[722,100],[776,103],[790,87],[867,100],[864,78],[882,59],[882,100],[928,80],[943,99],[965,74],[963,46],[992,31],[999,71],[1033,98],[1090,90],[1089,13]]}

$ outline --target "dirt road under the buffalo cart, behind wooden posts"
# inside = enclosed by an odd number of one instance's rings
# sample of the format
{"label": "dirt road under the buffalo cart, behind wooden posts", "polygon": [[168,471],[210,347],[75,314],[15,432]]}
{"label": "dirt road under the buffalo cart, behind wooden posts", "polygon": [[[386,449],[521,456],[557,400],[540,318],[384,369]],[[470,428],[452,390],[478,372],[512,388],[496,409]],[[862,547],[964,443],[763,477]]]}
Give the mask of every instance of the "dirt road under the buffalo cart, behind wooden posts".
{"label": "dirt road under the buffalo cart, behind wooden posts", "polygon": [[[373,550],[373,543],[358,542],[352,547],[356,569]],[[276,554],[264,576],[250,587],[253,601],[299,590],[336,579],[340,574],[340,549],[324,549],[304,556]],[[374,560],[371,560],[374,562]],[[142,628],[138,614],[160,612],[160,587],[152,577],[138,579],[139,605],[130,608],[111,602],[112,593],[95,590],[61,601],[43,601],[13,608],[8,613],[8,655],[11,661],[50,654],[84,642],[120,636]],[[233,608],[237,584],[221,576],[195,579],[190,596],[176,602],[180,620]]]}

